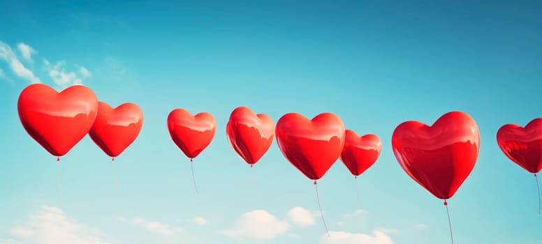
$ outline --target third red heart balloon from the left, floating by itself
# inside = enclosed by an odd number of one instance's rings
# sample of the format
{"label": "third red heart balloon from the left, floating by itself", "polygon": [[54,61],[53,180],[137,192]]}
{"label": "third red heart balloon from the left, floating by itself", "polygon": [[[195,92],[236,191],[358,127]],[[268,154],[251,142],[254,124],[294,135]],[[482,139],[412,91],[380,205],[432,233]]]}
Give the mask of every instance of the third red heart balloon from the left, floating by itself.
{"label": "third red heart balloon from the left, floating by itself", "polygon": [[168,116],[168,129],[173,142],[186,157],[196,158],[212,141],[217,121],[202,112],[192,116],[184,109],[175,109]]}

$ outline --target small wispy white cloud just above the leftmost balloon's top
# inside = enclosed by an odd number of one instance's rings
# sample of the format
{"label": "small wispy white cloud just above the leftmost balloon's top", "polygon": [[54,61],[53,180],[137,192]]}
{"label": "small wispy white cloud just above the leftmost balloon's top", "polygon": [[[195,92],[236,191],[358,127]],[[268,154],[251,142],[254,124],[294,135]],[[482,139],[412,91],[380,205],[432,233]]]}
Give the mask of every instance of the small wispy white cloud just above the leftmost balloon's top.
{"label": "small wispy white cloud just above the leftmost balloon's top", "polygon": [[[47,59],[44,59],[43,64],[44,64],[45,70],[47,70],[47,73],[51,77],[54,84],[56,84],[60,88],[66,88],[74,84],[82,84],[83,82],[82,77],[78,76],[77,73],[75,73],[74,71],[66,70],[65,61],[58,61],[57,63],[52,64],[49,61],[47,61]],[[90,77],[91,73],[87,70],[87,68],[81,67],[80,73],[85,72],[82,70],[86,71],[85,75],[82,75],[82,76]]]}

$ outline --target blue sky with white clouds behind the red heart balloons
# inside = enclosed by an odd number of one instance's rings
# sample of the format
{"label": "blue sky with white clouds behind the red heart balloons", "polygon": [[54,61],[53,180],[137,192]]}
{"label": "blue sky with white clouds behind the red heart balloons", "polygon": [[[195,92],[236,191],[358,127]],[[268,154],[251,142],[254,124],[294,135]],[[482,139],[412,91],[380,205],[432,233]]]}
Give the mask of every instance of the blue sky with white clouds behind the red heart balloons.
{"label": "blue sky with white clouds behind the red heart balloons", "polygon": [[[390,146],[403,121],[470,114],[478,162],[449,201],[456,243],[541,243],[532,174],[497,146],[501,125],[541,116],[536,1],[1,1],[0,243],[449,243],[442,201]],[[85,137],[57,162],[27,135],[17,97],[32,82],[82,83],[145,122],[117,160]],[[254,168],[226,123],[247,106],[276,122],[332,112],[383,142],[357,182],[340,161],[318,190],[276,142]],[[189,160],[170,140],[175,108],[210,112],[217,133]],[[63,208],[61,208],[63,207]]]}

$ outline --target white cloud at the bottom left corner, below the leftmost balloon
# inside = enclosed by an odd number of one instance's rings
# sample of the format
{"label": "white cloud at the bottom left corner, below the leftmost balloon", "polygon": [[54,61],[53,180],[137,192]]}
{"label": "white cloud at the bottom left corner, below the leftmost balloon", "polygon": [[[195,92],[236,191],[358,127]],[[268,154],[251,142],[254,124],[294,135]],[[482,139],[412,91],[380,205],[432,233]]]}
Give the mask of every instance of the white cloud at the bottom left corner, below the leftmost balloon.
{"label": "white cloud at the bottom left corner, below the leftmost balloon", "polygon": [[97,229],[70,220],[59,208],[43,206],[22,227],[10,230],[9,244],[106,244]]}

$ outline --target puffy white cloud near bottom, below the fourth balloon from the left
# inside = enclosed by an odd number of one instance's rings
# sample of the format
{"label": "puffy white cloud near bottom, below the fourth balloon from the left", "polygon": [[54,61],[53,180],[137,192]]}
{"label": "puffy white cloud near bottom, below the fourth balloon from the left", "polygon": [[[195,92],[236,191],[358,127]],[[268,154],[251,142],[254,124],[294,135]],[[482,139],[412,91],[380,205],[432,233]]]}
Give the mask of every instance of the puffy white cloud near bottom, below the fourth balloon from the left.
{"label": "puffy white cloud near bottom, below the fourth balloon from the left", "polygon": [[279,220],[276,216],[264,210],[244,213],[229,229],[220,229],[217,234],[230,238],[272,239],[284,234],[289,229],[288,222]]}

